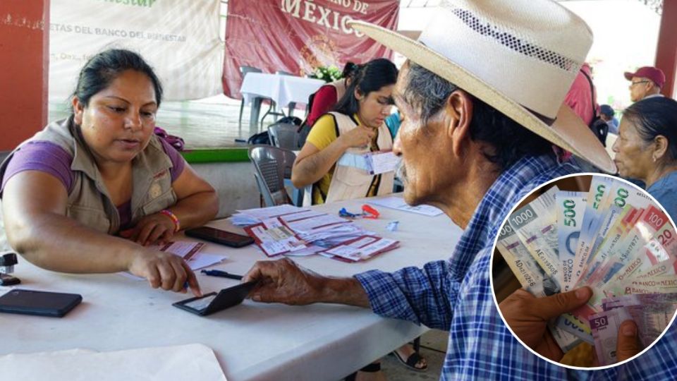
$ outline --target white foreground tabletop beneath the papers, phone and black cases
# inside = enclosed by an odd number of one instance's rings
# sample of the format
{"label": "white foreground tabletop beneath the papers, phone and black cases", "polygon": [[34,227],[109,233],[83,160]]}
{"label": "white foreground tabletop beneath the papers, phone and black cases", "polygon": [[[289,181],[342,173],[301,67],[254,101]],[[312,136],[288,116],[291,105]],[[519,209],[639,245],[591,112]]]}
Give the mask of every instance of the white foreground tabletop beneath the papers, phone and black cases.
{"label": "white foreground tabletop beneath the papers, phone and black cases", "polygon": [[[337,213],[341,207],[358,212],[365,200],[314,207]],[[446,259],[461,229],[442,214],[419,214],[377,207],[381,217],[358,224],[401,247],[372,260],[346,263],[312,256],[296,258],[321,274],[350,276],[366,270],[421,267]],[[398,220],[397,231],[385,229]],[[240,231],[224,220],[210,223]],[[255,261],[265,260],[256,246],[226,248],[207,243],[207,253],[224,253],[228,260],[214,268],[244,274]],[[96,253],[92,253],[96,255]],[[144,281],[120,274],[59,274],[20,260],[20,287],[83,295],[83,303],[61,319],[0,314],[0,355],[63,349],[117,351],[154,346],[200,343],[216,353],[229,381],[338,380],[353,370],[425,332],[410,322],[385,319],[370,310],[315,304],[284,306],[245,301],[228,310],[199,317],[171,306],[187,295],[151,289]],[[217,291],[238,281],[197,274],[202,290]],[[8,287],[0,287],[4,294]]]}

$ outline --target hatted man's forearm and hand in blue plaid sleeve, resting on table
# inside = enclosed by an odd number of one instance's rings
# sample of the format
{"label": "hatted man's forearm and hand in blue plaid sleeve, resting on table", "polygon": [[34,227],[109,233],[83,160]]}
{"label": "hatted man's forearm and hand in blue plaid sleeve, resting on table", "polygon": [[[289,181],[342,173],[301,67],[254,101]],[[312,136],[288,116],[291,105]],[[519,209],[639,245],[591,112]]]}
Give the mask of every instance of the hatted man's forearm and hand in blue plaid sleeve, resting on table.
{"label": "hatted man's forearm and hand in blue plaid sleeve, resting on table", "polygon": [[377,270],[352,278],[322,277],[287,258],[260,261],[243,282],[258,281],[250,293],[254,301],[304,305],[339,303],[371,308],[384,317],[410,320],[428,327],[449,329],[452,311],[449,264],[430,262],[424,269],[407,267],[398,272]]}

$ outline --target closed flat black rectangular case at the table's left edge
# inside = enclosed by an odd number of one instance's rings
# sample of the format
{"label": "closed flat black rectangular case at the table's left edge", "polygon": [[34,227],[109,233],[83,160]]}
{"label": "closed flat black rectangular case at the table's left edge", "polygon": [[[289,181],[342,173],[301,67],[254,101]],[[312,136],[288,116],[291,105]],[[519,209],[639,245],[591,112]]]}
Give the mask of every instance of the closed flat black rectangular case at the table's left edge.
{"label": "closed flat black rectangular case at the table's left edge", "polygon": [[78,294],[13,289],[0,296],[0,312],[63,317],[81,301]]}

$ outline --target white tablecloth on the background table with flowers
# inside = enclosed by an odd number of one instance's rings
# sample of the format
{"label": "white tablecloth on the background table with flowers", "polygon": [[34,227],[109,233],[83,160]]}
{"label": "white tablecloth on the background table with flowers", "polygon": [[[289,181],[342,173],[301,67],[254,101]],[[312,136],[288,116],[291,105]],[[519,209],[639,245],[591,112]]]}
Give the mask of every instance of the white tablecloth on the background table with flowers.
{"label": "white tablecloth on the background table with flowers", "polygon": [[287,107],[290,102],[306,104],[308,97],[316,92],[324,80],[301,78],[292,75],[268,73],[248,73],[240,87],[245,104],[254,97],[273,99],[279,107]]}

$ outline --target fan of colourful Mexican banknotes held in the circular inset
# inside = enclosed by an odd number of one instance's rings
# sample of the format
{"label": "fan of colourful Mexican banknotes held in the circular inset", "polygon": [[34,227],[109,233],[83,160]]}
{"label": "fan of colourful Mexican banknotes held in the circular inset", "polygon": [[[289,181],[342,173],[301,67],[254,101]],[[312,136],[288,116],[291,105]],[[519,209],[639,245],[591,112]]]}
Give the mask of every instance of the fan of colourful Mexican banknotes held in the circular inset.
{"label": "fan of colourful Mexican banknotes held in the circular inset", "polygon": [[616,362],[623,320],[635,320],[644,345],[669,324],[677,306],[676,236],[645,191],[593,176],[589,192],[553,187],[513,212],[496,248],[535,296],[590,286],[587,305],[550,328],[563,351],[587,341],[606,365]]}

